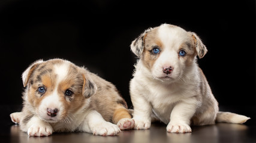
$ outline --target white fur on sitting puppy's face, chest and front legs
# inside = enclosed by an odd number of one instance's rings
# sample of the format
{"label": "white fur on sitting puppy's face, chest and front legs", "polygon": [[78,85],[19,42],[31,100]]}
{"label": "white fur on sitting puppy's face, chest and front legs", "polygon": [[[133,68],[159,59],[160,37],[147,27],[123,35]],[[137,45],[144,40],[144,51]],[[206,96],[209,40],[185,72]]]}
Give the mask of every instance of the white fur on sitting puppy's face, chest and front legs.
{"label": "white fur on sitting puppy's face, chest and front legs", "polygon": [[[201,73],[195,59],[188,67],[179,58],[180,45],[188,41],[188,32],[163,24],[156,34],[162,42],[161,54],[151,69],[139,60],[130,83],[135,129],[150,128],[153,113],[167,124],[168,132],[191,132],[190,120],[202,104],[196,97],[201,94]],[[171,74],[165,74],[162,69],[170,66]],[[214,113],[212,116],[215,118]]]}

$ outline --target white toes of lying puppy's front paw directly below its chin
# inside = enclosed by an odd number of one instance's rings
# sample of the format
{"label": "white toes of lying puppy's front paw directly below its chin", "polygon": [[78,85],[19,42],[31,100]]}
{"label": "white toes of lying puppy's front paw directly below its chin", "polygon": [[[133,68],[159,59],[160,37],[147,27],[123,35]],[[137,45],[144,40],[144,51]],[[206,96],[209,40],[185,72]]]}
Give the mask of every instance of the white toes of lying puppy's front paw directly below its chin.
{"label": "white toes of lying puppy's front paw directly below its chin", "polygon": [[34,124],[30,126],[28,129],[29,136],[49,136],[49,135],[52,135],[52,133],[53,133],[52,126]]}

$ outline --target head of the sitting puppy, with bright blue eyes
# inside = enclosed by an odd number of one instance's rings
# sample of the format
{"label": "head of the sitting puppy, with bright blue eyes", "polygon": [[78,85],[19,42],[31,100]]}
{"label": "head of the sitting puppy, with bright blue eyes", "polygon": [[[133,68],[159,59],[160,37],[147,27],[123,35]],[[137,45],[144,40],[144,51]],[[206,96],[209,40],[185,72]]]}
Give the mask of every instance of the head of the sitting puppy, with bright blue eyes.
{"label": "head of the sitting puppy, with bright blue eyes", "polygon": [[207,49],[195,33],[162,24],[146,30],[132,41],[131,51],[154,79],[174,82],[182,80],[195,66],[196,56],[203,58]]}

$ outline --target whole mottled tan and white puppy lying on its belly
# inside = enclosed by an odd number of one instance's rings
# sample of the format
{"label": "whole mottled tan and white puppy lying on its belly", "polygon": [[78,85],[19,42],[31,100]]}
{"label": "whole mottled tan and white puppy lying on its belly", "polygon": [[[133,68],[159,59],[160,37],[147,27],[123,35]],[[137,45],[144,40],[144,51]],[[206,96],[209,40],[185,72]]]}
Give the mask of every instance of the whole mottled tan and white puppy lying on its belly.
{"label": "whole mottled tan and white puppy lying on its belly", "polygon": [[10,116],[29,136],[49,136],[53,131],[116,135],[134,125],[115,86],[70,61],[35,61],[22,80],[22,112]]}

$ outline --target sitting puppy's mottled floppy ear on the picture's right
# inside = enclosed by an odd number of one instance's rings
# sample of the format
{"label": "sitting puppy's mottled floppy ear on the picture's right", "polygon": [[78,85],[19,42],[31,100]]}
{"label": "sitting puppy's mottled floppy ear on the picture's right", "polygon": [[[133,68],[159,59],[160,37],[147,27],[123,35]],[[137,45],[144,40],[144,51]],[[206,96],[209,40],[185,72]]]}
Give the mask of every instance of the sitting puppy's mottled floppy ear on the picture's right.
{"label": "sitting puppy's mottled floppy ear on the picture's right", "polygon": [[197,51],[197,55],[199,58],[203,58],[207,52],[206,46],[203,44],[201,39],[194,32],[191,32],[191,34],[192,34],[192,39],[195,42],[195,50]]}

